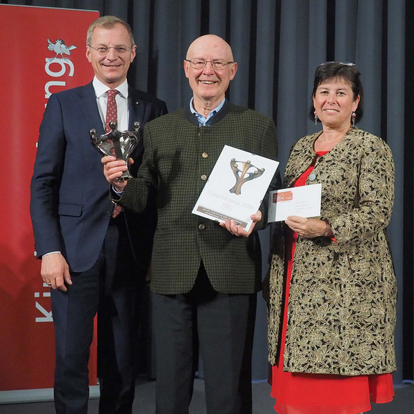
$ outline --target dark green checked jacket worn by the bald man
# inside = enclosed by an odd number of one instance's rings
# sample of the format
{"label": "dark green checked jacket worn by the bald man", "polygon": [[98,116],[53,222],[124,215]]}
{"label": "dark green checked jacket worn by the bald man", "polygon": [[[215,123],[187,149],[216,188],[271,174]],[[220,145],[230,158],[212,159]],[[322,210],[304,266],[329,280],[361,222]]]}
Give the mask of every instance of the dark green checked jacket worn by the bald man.
{"label": "dark green checked jacket worn by the bald man", "polygon": [[[189,108],[148,122],[144,159],[137,179],[131,179],[117,201],[139,212],[155,197],[158,223],[152,250],[151,289],[162,295],[187,293],[202,262],[220,293],[255,293],[261,288],[259,237],[236,237],[215,221],[191,213],[224,145],[276,159],[275,123],[228,101],[199,127]],[[278,175],[270,187],[277,187]],[[255,230],[266,226],[264,218]]]}

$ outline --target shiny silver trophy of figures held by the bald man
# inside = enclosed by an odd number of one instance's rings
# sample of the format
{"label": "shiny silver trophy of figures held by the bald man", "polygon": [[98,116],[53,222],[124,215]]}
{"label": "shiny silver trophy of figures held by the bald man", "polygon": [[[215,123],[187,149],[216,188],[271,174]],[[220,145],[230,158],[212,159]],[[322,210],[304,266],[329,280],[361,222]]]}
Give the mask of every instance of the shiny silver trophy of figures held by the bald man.
{"label": "shiny silver trophy of figures held by the bald man", "polygon": [[[94,146],[102,155],[112,155],[117,159],[123,159],[128,165],[128,159],[132,154],[132,151],[138,144],[139,128],[141,124],[138,121],[134,122],[133,131],[119,131],[117,121],[110,121],[110,131],[106,134],[97,136],[97,130],[91,129],[89,131],[90,144]],[[115,181],[124,181],[132,178],[128,170],[124,171],[121,177]]]}

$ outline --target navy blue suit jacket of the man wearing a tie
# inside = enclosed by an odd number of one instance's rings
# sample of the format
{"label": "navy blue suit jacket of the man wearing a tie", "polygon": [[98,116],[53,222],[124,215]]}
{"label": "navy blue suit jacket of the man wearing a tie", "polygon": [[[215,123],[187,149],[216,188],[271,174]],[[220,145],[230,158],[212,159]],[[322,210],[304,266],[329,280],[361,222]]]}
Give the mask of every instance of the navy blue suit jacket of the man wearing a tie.
{"label": "navy blue suit jacket of the man wearing a tie", "polygon": [[[164,101],[132,88],[128,106],[130,130],[134,121],[141,122],[142,131],[147,121],[167,112]],[[37,255],[60,250],[75,272],[95,264],[112,211],[101,155],[90,144],[92,128],[103,134],[92,83],[51,95],[40,126],[31,183],[30,215]],[[132,173],[142,151],[140,139],[132,155]],[[145,215],[139,220],[133,217],[131,225],[148,224]]]}

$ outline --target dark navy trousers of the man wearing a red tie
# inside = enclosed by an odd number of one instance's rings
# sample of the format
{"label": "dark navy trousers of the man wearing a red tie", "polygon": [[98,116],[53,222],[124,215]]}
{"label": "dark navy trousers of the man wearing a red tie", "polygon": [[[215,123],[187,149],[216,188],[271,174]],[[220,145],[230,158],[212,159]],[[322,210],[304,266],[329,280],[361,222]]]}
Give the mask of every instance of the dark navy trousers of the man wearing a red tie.
{"label": "dark navy trousers of the man wearing a red tie", "polygon": [[[55,407],[88,411],[88,360],[97,314],[99,414],[130,414],[135,392],[133,335],[140,286],[124,213],[110,221],[97,262],[71,272],[67,292],[52,290],[55,324]],[[85,246],[88,248],[88,246]]]}

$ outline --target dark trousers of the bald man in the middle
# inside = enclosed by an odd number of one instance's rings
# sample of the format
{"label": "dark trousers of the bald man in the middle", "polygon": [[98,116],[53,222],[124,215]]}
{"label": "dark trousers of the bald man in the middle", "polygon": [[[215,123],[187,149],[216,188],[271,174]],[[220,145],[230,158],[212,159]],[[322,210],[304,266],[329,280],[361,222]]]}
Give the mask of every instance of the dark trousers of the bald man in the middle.
{"label": "dark trousers of the bald man in the middle", "polygon": [[257,294],[218,293],[201,263],[182,295],[154,295],[157,414],[188,414],[198,353],[208,414],[251,414]]}

